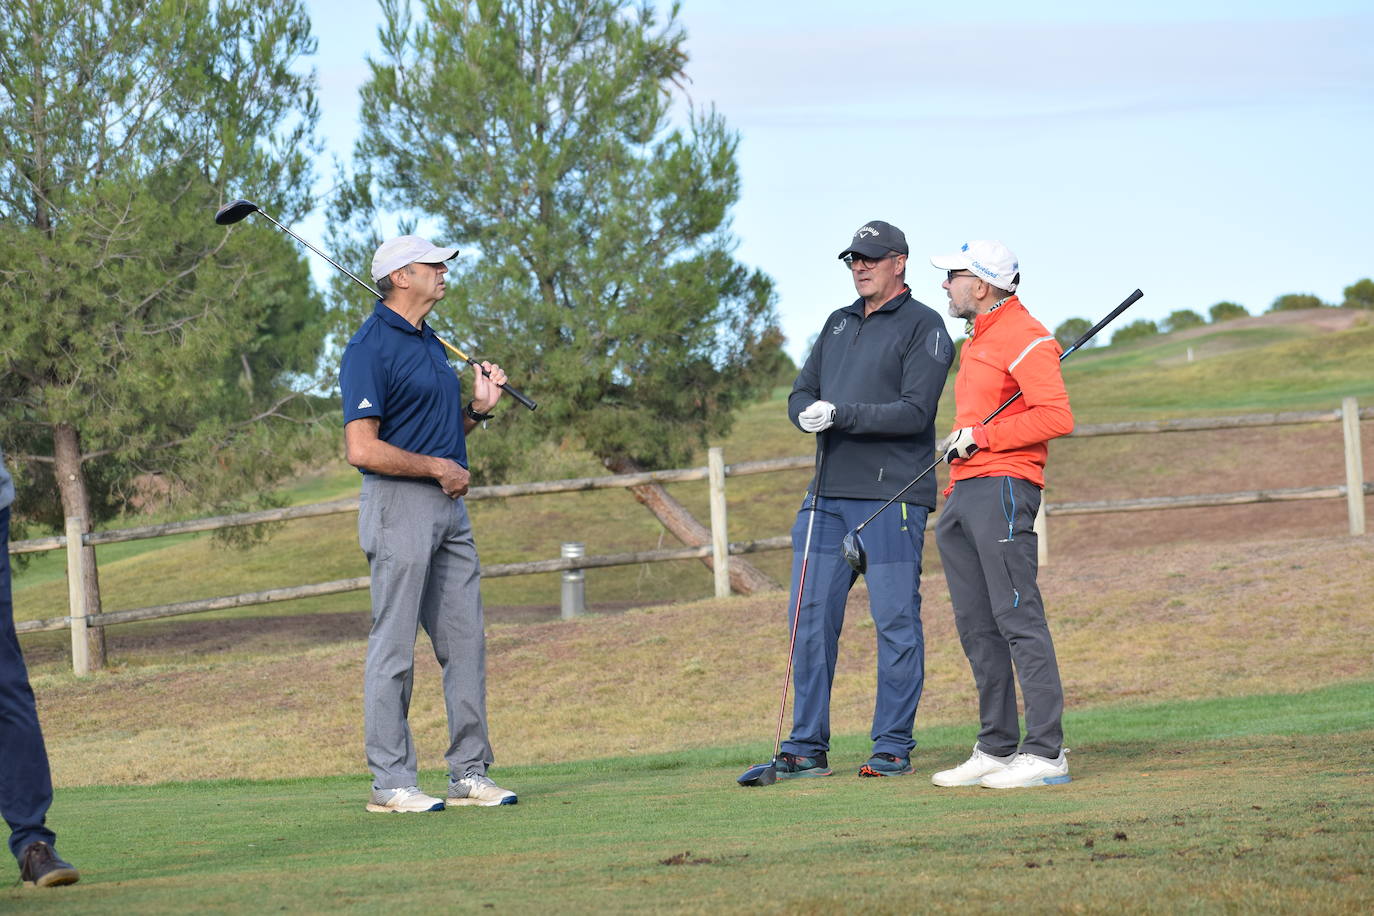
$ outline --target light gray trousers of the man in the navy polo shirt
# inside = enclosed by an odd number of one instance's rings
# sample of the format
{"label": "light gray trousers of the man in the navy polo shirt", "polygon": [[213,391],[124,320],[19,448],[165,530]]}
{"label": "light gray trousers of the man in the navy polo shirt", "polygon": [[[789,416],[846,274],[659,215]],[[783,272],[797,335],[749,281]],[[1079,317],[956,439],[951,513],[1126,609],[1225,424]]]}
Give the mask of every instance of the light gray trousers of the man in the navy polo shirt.
{"label": "light gray trousers of the man in the navy polo shirt", "polygon": [[367,765],[378,788],[416,784],[407,721],[415,639],[430,637],[442,669],[449,773],[486,773],[486,637],[481,567],[463,500],[423,481],[363,477],[357,537],[372,571],[372,632],[363,673]]}

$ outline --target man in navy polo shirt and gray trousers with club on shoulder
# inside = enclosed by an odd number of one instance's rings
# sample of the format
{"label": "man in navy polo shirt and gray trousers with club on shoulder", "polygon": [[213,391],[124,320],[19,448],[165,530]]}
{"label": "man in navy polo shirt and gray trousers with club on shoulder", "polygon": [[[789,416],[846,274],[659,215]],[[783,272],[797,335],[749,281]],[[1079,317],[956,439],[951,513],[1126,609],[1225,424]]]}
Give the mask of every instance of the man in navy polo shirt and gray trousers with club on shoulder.
{"label": "man in navy polo shirt and gray trousers with club on shoulder", "polygon": [[[500,400],[506,374],[482,363],[464,405],[458,375],[425,323],[444,298],[441,249],[414,235],[372,257],[382,293],[344,350],[344,444],[363,471],[359,542],[372,573],[372,630],[363,673],[363,731],[372,770],[370,812],[438,812],[448,805],[514,805],[486,770],[486,641],[481,569],[463,494],[467,434]],[[418,787],[407,717],[415,637],[430,637],[442,669],[449,746],[445,799]]]}

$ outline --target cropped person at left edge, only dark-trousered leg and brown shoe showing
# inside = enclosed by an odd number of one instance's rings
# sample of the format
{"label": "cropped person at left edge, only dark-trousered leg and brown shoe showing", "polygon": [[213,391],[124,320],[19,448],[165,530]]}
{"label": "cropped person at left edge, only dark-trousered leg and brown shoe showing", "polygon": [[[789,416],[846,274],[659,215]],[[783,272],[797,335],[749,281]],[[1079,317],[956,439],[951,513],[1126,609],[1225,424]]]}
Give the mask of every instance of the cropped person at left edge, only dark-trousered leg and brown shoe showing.
{"label": "cropped person at left edge, only dark-trousered leg and brown shoe showing", "polygon": [[29,887],[74,884],[80,872],[58,856],[58,836],[47,827],[52,773],[29,687],[29,669],[14,629],[10,591],[10,507],[14,478],[0,452],[0,814],[10,825],[10,851]]}

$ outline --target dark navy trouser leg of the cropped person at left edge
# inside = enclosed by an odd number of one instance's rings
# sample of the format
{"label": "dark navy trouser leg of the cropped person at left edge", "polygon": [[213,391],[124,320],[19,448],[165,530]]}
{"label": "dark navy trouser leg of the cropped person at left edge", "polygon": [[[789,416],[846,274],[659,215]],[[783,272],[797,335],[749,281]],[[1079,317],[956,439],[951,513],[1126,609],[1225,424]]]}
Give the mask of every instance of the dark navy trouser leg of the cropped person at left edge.
{"label": "dark navy trouser leg of the cropped person at left edge", "polygon": [[43,744],[29,669],[14,629],[10,592],[10,507],[0,509],[0,813],[10,825],[15,858],[34,840],[52,846],[44,824],[52,805],[52,773]]}

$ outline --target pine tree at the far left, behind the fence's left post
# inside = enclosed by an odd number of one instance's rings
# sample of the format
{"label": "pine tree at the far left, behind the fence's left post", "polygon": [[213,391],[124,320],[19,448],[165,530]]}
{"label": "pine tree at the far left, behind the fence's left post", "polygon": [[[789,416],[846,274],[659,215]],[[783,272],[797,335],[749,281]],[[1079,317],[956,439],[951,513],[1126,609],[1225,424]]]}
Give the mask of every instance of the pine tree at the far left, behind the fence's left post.
{"label": "pine tree at the far left, behind the fence's left post", "polygon": [[290,385],[324,334],[308,271],[275,233],[212,220],[229,196],[308,206],[315,80],[291,67],[313,47],[297,0],[0,5],[21,526],[110,518],[150,478],[196,507],[257,501],[317,438]]}

